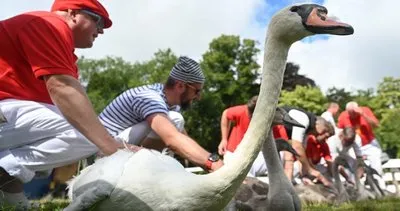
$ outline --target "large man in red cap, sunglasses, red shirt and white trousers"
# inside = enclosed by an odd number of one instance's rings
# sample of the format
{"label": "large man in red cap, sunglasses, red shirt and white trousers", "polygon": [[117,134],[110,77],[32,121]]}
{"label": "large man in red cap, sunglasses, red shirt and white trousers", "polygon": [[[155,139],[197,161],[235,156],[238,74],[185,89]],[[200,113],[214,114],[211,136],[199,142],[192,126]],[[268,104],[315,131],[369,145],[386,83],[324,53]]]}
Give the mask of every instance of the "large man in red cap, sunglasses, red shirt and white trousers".
{"label": "large man in red cap, sunglasses, red shirt and white trousers", "polygon": [[98,120],[74,54],[111,25],[96,0],[56,0],[51,12],[0,21],[0,206],[29,206],[22,184],[36,171],[123,147]]}

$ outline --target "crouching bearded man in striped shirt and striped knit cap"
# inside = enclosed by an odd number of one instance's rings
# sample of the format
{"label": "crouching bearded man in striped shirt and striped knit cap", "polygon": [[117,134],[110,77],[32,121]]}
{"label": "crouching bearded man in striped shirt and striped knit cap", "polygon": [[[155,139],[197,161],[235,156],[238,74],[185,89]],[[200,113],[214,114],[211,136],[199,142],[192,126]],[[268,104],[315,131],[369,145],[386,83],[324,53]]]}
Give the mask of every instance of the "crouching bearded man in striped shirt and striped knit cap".
{"label": "crouching bearded man in striped shirt and striped knit cap", "polygon": [[204,84],[200,65],[180,57],[165,84],[129,89],[100,114],[100,121],[114,137],[130,144],[161,150],[168,147],[180,156],[215,171],[223,164],[184,134],[180,109],[200,98]]}

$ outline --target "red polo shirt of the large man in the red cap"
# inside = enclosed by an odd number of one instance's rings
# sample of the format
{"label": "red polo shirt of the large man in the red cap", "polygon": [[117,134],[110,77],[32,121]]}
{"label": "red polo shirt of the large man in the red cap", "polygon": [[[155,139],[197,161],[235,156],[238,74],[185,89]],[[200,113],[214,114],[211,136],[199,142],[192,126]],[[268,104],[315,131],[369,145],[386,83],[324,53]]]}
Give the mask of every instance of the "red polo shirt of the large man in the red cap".
{"label": "red polo shirt of the large man in the red cap", "polygon": [[72,31],[51,12],[30,12],[0,21],[0,100],[52,104],[45,75],[78,78]]}

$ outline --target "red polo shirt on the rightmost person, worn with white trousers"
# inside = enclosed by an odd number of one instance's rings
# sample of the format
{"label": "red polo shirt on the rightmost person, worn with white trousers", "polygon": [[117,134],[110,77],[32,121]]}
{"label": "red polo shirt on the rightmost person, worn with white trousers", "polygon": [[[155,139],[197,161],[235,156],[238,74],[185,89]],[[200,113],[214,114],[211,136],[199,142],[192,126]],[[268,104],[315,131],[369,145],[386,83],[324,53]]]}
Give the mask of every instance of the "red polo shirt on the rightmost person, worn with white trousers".
{"label": "red polo shirt on the rightmost person, worn with white trousers", "polygon": [[[374,113],[372,113],[371,109],[368,107],[360,108],[363,110],[365,115],[378,122],[378,119],[375,117]],[[353,127],[356,130],[357,134],[361,137],[363,146],[371,143],[371,141],[375,139],[372,126],[362,115],[359,115],[355,118],[350,118],[349,113],[347,111],[343,111],[338,118],[338,128],[345,127]]]}

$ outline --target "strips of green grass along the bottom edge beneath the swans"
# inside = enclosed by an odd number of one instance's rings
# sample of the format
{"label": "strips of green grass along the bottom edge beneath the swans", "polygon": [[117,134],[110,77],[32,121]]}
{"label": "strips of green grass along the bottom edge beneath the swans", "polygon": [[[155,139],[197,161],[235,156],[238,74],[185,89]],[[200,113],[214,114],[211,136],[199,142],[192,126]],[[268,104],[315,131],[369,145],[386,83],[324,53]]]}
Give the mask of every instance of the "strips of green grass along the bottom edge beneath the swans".
{"label": "strips of green grass along the bottom edge beneath the swans", "polygon": [[[40,203],[39,209],[41,211],[62,211],[63,208],[68,206],[68,200],[52,200],[52,201],[36,201]],[[12,207],[0,207],[0,210],[13,211]],[[360,202],[353,202],[342,204],[341,206],[333,206],[331,204],[303,204],[303,211],[395,211],[400,210],[400,198],[385,198],[381,200],[366,200]]]}

